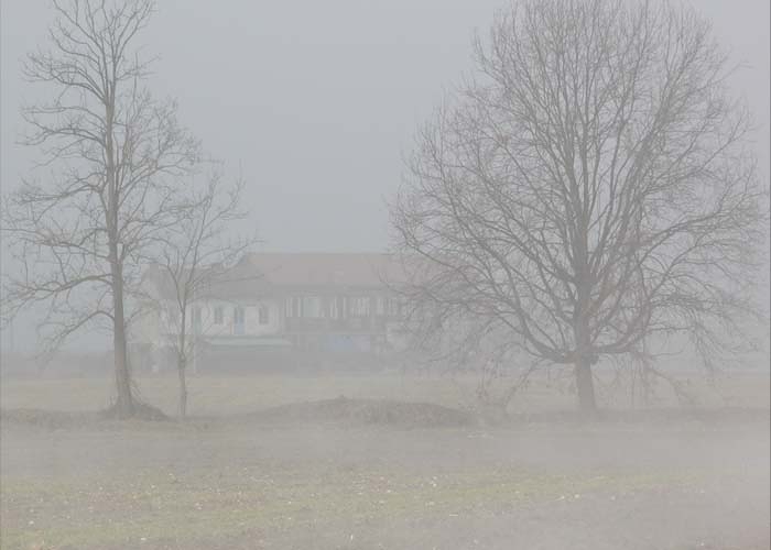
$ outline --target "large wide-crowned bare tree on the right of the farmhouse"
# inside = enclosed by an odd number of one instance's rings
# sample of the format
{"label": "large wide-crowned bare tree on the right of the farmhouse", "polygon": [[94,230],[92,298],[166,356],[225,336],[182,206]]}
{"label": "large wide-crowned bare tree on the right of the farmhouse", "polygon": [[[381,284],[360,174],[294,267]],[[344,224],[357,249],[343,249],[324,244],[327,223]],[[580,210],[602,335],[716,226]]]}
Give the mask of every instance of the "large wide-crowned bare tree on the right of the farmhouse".
{"label": "large wide-crowned bare tree on the right of the farmhouse", "polygon": [[[508,330],[573,365],[688,334],[709,352],[752,310],[764,189],[726,55],[693,10],[546,0],[496,18],[477,74],[420,132],[392,211],[424,258],[424,328]],[[650,351],[648,351],[650,353]]]}

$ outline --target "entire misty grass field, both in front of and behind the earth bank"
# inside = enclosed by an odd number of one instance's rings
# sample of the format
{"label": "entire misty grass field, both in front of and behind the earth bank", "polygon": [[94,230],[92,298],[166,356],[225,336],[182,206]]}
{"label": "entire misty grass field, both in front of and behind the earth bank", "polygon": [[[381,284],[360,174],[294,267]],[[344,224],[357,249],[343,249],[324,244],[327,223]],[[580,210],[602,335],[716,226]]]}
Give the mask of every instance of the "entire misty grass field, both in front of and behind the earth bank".
{"label": "entire misty grass field, both in front of and behind the earth bank", "polygon": [[[622,389],[600,382],[606,404],[626,403]],[[404,429],[228,416],[340,395],[464,407],[474,383],[399,374],[194,376],[196,416],[186,422],[58,426],[20,421],[29,417],[13,409],[93,411],[109,403],[110,381],[6,378],[0,548],[769,547],[764,421]],[[141,377],[139,387],[174,411],[174,377]],[[694,380],[691,387],[707,405],[768,407],[768,376],[715,386]],[[572,407],[568,389],[564,381],[536,380],[513,410]],[[671,405],[671,396],[659,403]]]}

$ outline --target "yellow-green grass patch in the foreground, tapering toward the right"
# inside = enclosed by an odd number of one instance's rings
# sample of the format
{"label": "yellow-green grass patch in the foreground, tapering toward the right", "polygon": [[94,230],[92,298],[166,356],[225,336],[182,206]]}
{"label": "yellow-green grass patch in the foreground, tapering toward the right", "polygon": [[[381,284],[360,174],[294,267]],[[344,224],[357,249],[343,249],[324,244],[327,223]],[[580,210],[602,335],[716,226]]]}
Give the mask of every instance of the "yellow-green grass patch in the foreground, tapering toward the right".
{"label": "yellow-green grass patch in the foreground, tapering toward the right", "polygon": [[510,470],[415,476],[384,470],[232,469],[183,477],[153,472],[121,479],[17,479],[3,484],[1,541],[8,549],[180,544],[317,521],[460,515],[576,495],[622,495],[691,485],[705,475]]}

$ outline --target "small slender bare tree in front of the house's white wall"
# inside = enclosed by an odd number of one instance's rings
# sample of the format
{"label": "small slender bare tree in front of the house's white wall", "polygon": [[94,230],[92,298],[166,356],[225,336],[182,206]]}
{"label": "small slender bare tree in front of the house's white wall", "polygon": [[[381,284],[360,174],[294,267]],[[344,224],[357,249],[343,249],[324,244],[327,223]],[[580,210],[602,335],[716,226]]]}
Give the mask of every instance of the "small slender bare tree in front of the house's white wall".
{"label": "small slender bare tree in front of the house's white wall", "polygon": [[[175,223],[163,234],[155,258],[163,299],[148,304],[165,321],[164,330],[176,358],[180,381],[180,415],[187,414],[186,372],[204,330],[193,319],[196,301],[211,297],[213,288],[234,280],[232,268],[257,243],[254,237],[231,237],[232,224],[247,218],[241,208],[243,183],[222,183],[221,172],[213,173],[200,193],[175,208]],[[192,330],[191,330],[192,329]]]}

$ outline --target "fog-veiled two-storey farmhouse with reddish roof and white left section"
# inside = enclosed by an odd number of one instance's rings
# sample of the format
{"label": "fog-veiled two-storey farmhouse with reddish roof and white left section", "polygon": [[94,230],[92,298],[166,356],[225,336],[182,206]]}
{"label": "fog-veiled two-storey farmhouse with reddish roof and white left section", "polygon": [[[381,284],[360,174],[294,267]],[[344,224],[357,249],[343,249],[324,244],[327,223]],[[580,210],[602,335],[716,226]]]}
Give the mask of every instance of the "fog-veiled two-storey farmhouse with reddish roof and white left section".
{"label": "fog-veiled two-storey farmhouse with reddish roof and white left section", "polygon": [[[252,253],[198,292],[186,332],[208,355],[275,350],[382,354],[405,345],[401,267],[390,254]],[[174,289],[146,277],[154,307],[133,332],[142,363],[167,363],[178,338]]]}

